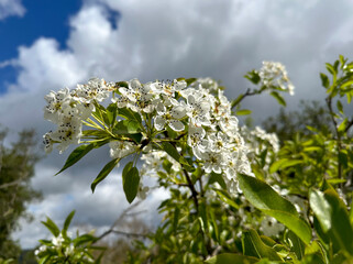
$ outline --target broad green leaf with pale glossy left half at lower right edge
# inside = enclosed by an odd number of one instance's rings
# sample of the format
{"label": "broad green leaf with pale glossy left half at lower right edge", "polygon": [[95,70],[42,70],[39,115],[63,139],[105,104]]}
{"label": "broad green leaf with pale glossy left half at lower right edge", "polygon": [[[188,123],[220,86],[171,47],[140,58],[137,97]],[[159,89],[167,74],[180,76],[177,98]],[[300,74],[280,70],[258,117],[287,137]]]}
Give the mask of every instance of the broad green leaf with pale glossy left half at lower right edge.
{"label": "broad green leaf with pale glossy left half at lower right edge", "polygon": [[340,249],[353,253],[353,228],[344,202],[332,189],[324,193],[311,190],[309,194],[310,207],[320,222],[320,227],[327,233],[333,249]]}

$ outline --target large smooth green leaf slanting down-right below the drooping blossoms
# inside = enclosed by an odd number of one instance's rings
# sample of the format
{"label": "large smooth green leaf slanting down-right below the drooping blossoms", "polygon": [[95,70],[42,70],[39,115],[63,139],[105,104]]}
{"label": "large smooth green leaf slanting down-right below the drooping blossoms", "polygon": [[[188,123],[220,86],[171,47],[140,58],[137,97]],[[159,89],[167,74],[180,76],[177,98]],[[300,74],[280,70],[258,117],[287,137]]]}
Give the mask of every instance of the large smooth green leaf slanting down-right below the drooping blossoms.
{"label": "large smooth green leaf slanting down-right below the drooping blossoms", "polygon": [[266,183],[251,176],[238,176],[245,198],[264,213],[277,219],[297,234],[306,244],[310,243],[311,229],[302,220],[294,205],[279,196]]}

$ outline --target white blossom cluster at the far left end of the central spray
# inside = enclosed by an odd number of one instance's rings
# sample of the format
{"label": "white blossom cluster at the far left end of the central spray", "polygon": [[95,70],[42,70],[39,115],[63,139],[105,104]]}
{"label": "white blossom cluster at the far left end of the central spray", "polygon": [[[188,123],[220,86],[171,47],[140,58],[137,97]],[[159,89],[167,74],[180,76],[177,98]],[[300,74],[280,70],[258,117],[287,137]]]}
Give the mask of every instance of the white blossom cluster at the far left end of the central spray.
{"label": "white blossom cluster at the far left end of the central spray", "polygon": [[88,84],[77,85],[74,90],[64,88],[58,92],[51,91],[46,95],[44,119],[57,124],[57,129],[43,135],[45,152],[52,152],[54,143],[58,144],[57,148],[60,153],[70,144],[78,144],[82,121],[95,110],[93,101],[108,98],[112,86],[103,79],[93,78]]}

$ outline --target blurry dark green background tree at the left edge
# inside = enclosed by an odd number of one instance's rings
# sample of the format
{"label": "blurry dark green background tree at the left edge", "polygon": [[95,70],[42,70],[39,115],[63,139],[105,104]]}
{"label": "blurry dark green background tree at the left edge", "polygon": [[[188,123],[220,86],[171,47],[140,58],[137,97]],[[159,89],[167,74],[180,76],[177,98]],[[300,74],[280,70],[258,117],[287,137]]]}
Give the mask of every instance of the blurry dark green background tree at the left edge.
{"label": "blurry dark green background tree at the left edge", "polygon": [[4,146],[7,131],[0,133],[0,260],[16,258],[20,245],[11,233],[19,228],[19,219],[31,220],[26,202],[41,197],[30,186],[34,165],[38,161],[33,130],[19,133],[19,140],[11,147]]}

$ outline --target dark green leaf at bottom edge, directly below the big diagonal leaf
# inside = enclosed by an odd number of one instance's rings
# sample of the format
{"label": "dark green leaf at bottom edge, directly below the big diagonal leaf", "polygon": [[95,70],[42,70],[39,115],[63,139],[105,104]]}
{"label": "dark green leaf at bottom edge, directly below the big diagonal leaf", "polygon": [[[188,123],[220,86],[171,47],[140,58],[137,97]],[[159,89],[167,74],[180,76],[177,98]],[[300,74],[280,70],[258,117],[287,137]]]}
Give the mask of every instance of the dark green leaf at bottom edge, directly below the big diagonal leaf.
{"label": "dark green leaf at bottom edge, directly below the big diagonal leaf", "polygon": [[257,258],[267,257],[269,261],[282,261],[277,252],[266,245],[253,229],[243,232],[242,244],[244,255]]}

